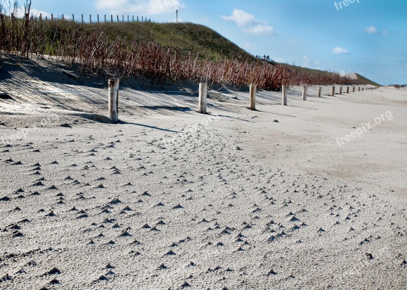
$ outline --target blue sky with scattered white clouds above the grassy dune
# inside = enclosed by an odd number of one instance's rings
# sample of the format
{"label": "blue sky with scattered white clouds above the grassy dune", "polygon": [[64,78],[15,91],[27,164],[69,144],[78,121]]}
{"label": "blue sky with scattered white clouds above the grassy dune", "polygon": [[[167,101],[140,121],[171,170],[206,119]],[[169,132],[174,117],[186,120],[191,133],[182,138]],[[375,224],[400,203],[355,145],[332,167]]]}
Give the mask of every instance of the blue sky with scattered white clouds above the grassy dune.
{"label": "blue sky with scattered white clouds above the grassy dune", "polygon": [[124,14],[159,22],[174,21],[178,9],[182,21],[209,26],[253,55],[407,83],[407,1],[348,1],[33,0],[32,7],[76,19]]}

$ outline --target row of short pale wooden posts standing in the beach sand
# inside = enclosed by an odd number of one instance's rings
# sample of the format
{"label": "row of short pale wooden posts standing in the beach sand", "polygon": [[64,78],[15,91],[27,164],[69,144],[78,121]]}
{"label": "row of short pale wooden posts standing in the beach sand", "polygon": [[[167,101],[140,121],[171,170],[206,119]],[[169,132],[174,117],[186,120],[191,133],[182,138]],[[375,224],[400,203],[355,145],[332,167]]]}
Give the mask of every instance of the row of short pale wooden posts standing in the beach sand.
{"label": "row of short pale wooden posts standing in the beach sand", "polygon": [[[109,117],[114,122],[119,121],[119,82],[118,78],[111,78],[108,80],[108,89],[109,89]],[[362,91],[365,88],[362,87]],[[366,89],[377,89],[377,87],[369,87]],[[287,90],[288,87],[282,86],[282,105],[287,106]],[[356,88],[352,87],[352,92],[355,92]],[[358,87],[358,91],[361,91],[361,87]],[[256,110],[256,92],[257,86],[249,86],[249,108],[251,110]],[[350,87],[346,87],[346,93],[350,93]],[[318,86],[317,98],[321,98],[322,87]],[[342,94],[342,87],[339,87],[339,94]],[[302,100],[307,101],[308,95],[308,86],[303,86],[302,91]],[[335,96],[335,86],[332,86],[332,96]],[[207,114],[207,97],[208,97],[208,83],[199,83],[199,100],[198,100],[198,112],[201,114]]]}

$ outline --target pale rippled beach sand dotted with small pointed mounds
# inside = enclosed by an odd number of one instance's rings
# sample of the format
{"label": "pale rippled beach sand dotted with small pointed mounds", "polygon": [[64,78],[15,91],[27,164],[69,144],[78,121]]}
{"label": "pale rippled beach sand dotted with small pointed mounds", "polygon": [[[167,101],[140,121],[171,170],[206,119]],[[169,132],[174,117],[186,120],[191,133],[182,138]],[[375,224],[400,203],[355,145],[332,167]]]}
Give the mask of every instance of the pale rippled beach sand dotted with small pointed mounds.
{"label": "pale rippled beach sand dotted with small pointed mounds", "polygon": [[1,137],[57,116],[0,145],[1,289],[407,288],[407,90],[258,92],[250,111],[223,89],[203,116],[197,94],[125,88],[109,124],[107,89],[72,87],[0,100]]}

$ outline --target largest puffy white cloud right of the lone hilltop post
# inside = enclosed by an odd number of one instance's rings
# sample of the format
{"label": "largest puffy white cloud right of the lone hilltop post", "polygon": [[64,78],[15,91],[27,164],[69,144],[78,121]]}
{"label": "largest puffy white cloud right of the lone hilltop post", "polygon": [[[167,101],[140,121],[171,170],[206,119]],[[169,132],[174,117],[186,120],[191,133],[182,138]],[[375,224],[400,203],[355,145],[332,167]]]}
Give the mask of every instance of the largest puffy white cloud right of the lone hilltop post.
{"label": "largest puffy white cloud right of the lone hilltop post", "polygon": [[274,35],[274,28],[267,25],[267,21],[263,21],[254,17],[253,14],[247,13],[240,9],[234,9],[232,15],[220,17],[226,21],[235,22],[245,33],[255,35]]}

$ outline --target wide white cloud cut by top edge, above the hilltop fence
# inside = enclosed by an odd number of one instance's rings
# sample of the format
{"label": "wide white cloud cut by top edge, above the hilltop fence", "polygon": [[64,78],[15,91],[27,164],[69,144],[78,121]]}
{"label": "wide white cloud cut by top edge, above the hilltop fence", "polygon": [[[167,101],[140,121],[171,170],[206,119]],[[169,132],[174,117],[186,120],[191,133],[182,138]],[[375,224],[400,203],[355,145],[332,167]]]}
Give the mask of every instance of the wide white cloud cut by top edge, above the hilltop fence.
{"label": "wide white cloud cut by top edge, above the hilltop fence", "polygon": [[173,13],[185,7],[182,0],[96,0],[95,8],[98,11],[111,12],[111,14],[139,13],[144,15],[157,15]]}

